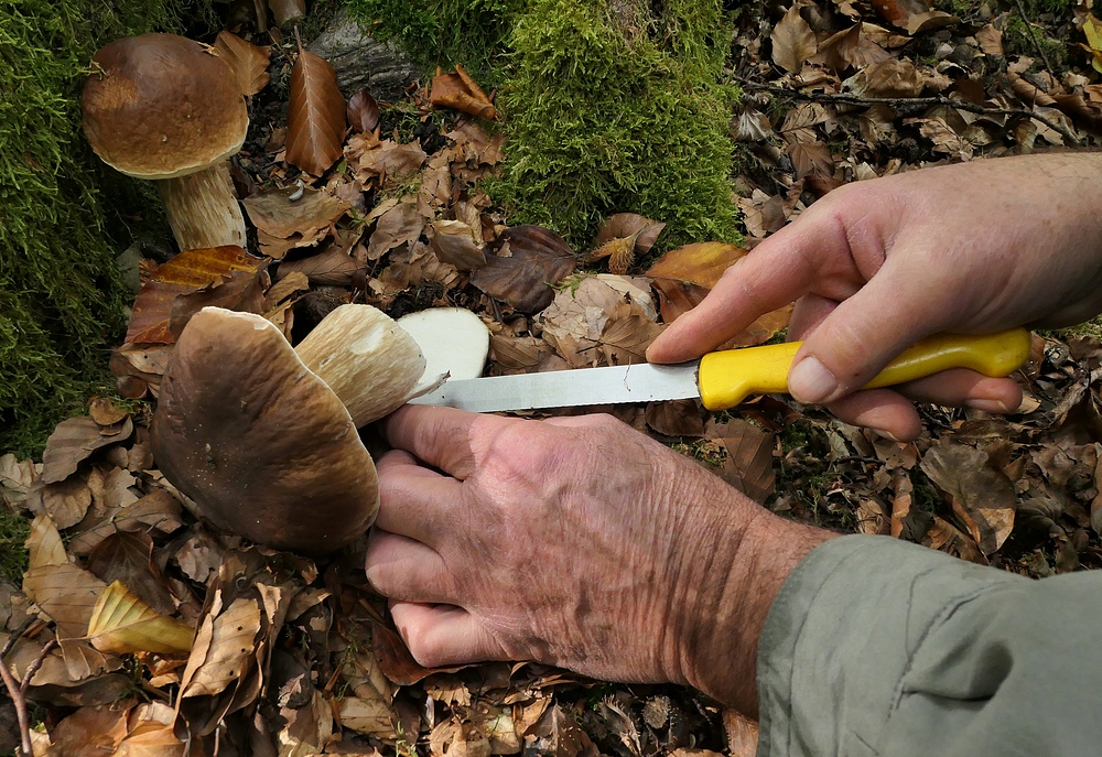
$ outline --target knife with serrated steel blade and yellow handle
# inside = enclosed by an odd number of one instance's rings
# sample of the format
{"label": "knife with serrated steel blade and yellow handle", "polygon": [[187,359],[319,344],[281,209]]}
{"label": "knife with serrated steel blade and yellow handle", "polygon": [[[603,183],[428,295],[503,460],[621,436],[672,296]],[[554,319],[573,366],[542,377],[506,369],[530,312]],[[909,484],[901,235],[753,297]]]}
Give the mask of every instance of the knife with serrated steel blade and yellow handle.
{"label": "knife with serrated steel blade and yellow handle", "polygon": [[[642,363],[445,380],[410,402],[499,412],[700,398],[709,410],[725,410],[749,394],[787,392],[788,369],[800,344],[725,349],[678,365]],[[947,368],[1009,376],[1028,357],[1029,332],[1024,328],[981,336],[938,334],[904,352],[865,388],[903,383]]]}

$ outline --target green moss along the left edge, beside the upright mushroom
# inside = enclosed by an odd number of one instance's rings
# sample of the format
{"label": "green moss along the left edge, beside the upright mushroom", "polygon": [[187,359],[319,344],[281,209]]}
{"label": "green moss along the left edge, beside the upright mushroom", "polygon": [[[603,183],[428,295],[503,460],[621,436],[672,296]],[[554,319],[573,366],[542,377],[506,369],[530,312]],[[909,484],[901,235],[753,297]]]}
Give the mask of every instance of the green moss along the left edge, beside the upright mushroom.
{"label": "green moss along the left edge, beside the upright mushroom", "polygon": [[[125,325],[114,259],[132,218],[80,132],[79,90],[104,43],[171,30],[184,2],[0,3],[0,451],[41,448],[106,378]],[[132,184],[107,180],[115,193]]]}

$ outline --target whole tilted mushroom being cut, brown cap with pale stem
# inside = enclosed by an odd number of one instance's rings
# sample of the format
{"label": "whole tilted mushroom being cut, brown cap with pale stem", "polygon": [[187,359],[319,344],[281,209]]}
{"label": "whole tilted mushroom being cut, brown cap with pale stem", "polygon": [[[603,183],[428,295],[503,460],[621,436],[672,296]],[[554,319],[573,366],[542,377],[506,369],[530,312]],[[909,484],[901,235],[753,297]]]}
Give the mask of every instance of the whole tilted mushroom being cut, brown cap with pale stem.
{"label": "whole tilted mushroom being cut, brown cap with pale stem", "polygon": [[161,383],[153,456],[215,526],[323,554],[378,512],[357,425],[400,407],[423,371],[412,338],[369,305],[342,305],[298,350],[259,315],[204,307]]}

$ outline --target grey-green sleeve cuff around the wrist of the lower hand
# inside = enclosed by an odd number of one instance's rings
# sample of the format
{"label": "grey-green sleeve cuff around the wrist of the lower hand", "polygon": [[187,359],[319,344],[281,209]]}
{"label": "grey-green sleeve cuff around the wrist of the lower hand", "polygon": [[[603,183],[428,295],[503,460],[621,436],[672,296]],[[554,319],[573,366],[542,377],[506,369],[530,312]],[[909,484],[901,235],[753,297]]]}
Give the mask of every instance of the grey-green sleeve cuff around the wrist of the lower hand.
{"label": "grey-green sleeve cuff around the wrist of the lower hand", "polygon": [[876,755],[926,636],[953,607],[1020,581],[888,537],[841,537],[812,550],[761,631],[758,757]]}

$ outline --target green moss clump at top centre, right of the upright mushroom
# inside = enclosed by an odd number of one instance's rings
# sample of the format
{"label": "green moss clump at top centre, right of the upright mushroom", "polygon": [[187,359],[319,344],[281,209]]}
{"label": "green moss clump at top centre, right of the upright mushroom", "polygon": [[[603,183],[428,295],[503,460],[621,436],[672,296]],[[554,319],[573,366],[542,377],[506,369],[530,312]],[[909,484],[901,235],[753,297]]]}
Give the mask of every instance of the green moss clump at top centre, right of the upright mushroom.
{"label": "green moss clump at top centre, right of the upright mushroom", "polygon": [[667,223],[662,249],[738,239],[737,93],[721,83],[731,25],[715,0],[349,2],[419,60],[488,66],[508,141],[485,188],[510,224],[584,246],[602,217],[631,212]]}

